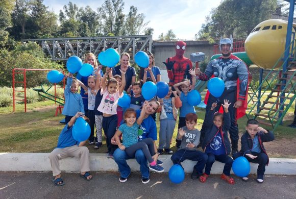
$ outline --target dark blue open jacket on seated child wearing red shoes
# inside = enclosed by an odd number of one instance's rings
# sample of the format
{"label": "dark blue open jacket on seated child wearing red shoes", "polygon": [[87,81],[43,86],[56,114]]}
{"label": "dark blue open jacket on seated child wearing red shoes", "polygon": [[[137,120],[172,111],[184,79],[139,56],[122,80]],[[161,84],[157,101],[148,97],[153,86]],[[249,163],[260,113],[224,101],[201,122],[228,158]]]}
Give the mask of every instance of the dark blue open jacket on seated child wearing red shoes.
{"label": "dark blue open jacket on seated child wearing red shoes", "polygon": [[205,118],[205,125],[206,125],[206,135],[205,138],[203,140],[202,143],[202,148],[203,150],[205,150],[206,146],[212,141],[212,139],[214,139],[214,137],[219,133],[219,131],[221,132],[221,136],[222,136],[222,140],[226,149],[225,154],[229,155],[231,152],[230,149],[230,141],[228,139],[228,130],[231,126],[230,123],[230,115],[229,113],[225,113],[223,114],[224,116],[224,123],[223,125],[220,127],[220,129],[218,129],[218,127],[216,127],[213,123],[213,116],[214,116],[214,112],[215,110],[210,110],[208,112],[208,115],[206,115]]}

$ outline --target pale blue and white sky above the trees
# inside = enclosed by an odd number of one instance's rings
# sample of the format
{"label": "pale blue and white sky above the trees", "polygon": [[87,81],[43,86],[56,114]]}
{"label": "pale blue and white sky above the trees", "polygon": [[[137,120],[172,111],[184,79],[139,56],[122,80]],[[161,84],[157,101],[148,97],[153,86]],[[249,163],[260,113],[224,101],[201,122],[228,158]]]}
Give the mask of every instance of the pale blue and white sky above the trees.
{"label": "pale blue and white sky above the trees", "polygon": [[[43,3],[50,11],[59,14],[63,6],[69,1],[63,0],[44,0]],[[79,8],[87,5],[96,11],[101,7],[104,0],[71,0]],[[210,14],[212,8],[216,8],[221,0],[150,0],[150,1],[133,1],[124,0],[124,14],[128,14],[130,7],[135,6],[138,13],[145,15],[145,21],[150,21],[147,27],[154,29],[153,39],[158,39],[161,33],[166,33],[172,29],[179,39],[193,39],[194,35],[199,32],[205,18]]]}

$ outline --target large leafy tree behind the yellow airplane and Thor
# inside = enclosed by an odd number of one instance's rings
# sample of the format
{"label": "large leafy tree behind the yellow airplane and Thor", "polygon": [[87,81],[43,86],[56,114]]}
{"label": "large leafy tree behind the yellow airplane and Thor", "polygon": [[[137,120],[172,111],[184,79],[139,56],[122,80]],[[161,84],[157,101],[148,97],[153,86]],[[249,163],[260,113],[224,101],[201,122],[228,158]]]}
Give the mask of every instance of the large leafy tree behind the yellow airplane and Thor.
{"label": "large leafy tree behind the yellow airplane and Thor", "polygon": [[198,39],[219,39],[230,35],[246,38],[258,23],[270,18],[277,5],[277,0],[223,0],[206,17]]}

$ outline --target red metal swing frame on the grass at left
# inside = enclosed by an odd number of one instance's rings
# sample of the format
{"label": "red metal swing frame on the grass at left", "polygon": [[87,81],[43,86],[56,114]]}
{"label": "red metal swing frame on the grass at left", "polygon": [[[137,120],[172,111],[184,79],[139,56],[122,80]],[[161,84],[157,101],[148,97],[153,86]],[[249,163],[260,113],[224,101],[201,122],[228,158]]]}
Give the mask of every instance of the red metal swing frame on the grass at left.
{"label": "red metal swing frame on the grass at left", "polygon": [[[54,69],[31,69],[31,68],[13,68],[12,69],[13,112],[15,112],[15,101],[23,101],[24,102],[24,112],[27,112],[26,72],[28,70],[29,71],[51,71],[51,70],[54,70]],[[18,72],[18,71],[21,71],[21,72]],[[64,70],[58,70],[58,71],[61,71],[65,75]],[[23,74],[23,82],[15,82],[15,74]],[[15,90],[15,84],[16,83],[23,84],[24,90]],[[57,85],[55,84],[55,96],[57,95],[56,88],[57,88]],[[61,88],[61,87],[58,87],[58,88]],[[65,90],[65,78],[63,79],[63,89]],[[16,99],[15,98],[15,92],[24,92],[24,99]]]}

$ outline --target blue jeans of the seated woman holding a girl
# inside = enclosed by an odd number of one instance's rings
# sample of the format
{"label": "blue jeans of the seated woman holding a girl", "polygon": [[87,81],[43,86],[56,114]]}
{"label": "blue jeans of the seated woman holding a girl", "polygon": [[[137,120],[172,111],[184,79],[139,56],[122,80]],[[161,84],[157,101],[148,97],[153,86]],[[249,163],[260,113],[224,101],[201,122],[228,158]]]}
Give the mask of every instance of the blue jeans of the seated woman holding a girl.
{"label": "blue jeans of the seated woman holding a girl", "polygon": [[114,160],[119,168],[119,173],[122,178],[128,178],[131,174],[131,168],[127,163],[128,159],[136,158],[137,162],[140,164],[140,172],[142,178],[149,178],[149,168],[147,165],[147,159],[142,150],[137,150],[134,157],[127,155],[125,151],[117,148],[113,154]]}

